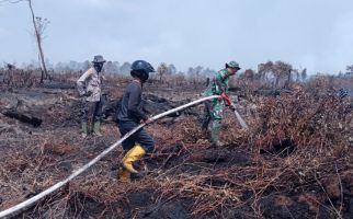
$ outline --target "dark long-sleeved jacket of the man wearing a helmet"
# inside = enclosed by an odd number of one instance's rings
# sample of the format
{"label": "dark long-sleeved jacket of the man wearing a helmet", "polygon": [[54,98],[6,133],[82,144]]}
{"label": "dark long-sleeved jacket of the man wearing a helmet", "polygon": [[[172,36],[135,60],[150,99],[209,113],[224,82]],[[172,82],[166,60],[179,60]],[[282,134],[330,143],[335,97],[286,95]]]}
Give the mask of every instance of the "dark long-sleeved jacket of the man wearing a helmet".
{"label": "dark long-sleeved jacket of the man wearing a helmet", "polygon": [[123,95],[121,107],[117,112],[118,122],[135,122],[147,119],[147,115],[143,111],[143,88],[141,83],[134,80],[130,82]]}

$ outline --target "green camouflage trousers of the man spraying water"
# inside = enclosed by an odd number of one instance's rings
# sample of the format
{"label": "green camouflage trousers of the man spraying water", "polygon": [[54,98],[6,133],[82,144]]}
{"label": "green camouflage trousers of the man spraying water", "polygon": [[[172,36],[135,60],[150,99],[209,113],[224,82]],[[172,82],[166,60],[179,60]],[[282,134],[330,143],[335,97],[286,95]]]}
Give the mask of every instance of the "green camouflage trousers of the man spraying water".
{"label": "green camouflage trousers of the man spraying water", "polygon": [[208,138],[213,143],[219,140],[221,113],[224,108],[224,103],[219,102],[217,99],[205,102],[202,129],[207,132]]}

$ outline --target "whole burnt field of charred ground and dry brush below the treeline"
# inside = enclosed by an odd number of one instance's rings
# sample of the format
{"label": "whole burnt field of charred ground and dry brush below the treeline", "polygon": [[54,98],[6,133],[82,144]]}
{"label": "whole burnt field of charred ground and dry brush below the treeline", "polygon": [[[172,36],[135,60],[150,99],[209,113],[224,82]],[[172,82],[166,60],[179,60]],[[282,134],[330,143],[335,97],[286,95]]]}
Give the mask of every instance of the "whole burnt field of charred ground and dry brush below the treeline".
{"label": "whole burnt field of charred ground and dry brush below the treeline", "polygon": [[[3,76],[0,87],[0,210],[117,141],[114,113],[130,80],[107,77],[103,137],[82,139],[77,73],[42,85],[35,72],[16,76]],[[146,127],[156,149],[138,164],[141,178],[116,180],[118,147],[12,218],[353,218],[352,100],[335,95],[346,82],[318,78],[273,90],[239,80],[230,94],[250,129],[226,110],[225,147],[210,147],[202,132],[203,105],[185,110]],[[204,88],[202,80],[152,80],[145,110],[157,115],[198,99]]]}

